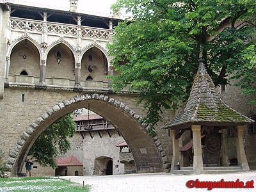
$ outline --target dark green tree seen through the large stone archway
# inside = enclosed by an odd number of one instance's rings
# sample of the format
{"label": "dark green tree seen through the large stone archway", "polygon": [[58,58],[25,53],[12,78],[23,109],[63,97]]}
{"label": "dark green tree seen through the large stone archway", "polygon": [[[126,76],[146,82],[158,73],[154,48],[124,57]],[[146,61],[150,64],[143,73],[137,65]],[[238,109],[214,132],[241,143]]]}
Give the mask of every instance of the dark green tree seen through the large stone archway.
{"label": "dark green tree seen through the large stone archway", "polygon": [[71,138],[74,132],[76,132],[76,123],[72,120],[72,113],[69,113],[38,136],[29,150],[29,155],[32,155],[32,158],[42,166],[56,168],[56,156],[65,154],[70,149],[68,138]]}

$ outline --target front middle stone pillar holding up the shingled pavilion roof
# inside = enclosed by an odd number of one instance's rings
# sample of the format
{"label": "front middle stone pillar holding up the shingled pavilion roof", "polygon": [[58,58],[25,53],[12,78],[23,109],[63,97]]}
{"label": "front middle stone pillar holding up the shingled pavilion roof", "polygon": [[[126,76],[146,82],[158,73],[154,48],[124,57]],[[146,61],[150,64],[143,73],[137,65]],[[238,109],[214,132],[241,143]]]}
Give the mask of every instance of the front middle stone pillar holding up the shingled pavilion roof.
{"label": "front middle stone pillar holding up the shingled pavilion roof", "polygon": [[201,125],[192,125],[191,129],[193,131],[194,146],[193,172],[195,174],[200,174],[204,171],[201,145]]}

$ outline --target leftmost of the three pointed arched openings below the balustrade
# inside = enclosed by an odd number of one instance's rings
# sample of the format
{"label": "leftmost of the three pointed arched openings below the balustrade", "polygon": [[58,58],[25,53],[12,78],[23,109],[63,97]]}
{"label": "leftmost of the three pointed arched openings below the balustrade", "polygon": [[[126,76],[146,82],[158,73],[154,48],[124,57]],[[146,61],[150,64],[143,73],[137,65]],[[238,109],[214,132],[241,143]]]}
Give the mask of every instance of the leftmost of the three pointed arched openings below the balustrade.
{"label": "leftmost of the three pointed arched openings below the balustrade", "polygon": [[[29,68],[28,72],[24,68]],[[21,72],[20,72],[21,71]],[[28,39],[15,45],[10,54],[9,82],[38,83],[40,74],[40,54],[36,46]]]}

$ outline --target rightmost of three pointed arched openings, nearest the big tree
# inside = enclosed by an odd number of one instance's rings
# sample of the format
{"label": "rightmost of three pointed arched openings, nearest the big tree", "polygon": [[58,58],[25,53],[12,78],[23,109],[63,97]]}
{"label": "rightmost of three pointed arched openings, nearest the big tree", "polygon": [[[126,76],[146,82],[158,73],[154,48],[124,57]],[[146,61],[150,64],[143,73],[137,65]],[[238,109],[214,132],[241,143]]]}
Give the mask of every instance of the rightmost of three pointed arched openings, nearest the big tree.
{"label": "rightmost of three pointed arched openings, nearest the big tree", "polygon": [[95,81],[106,81],[108,74],[108,60],[105,54],[97,47],[92,47],[84,52],[81,60],[81,84],[86,81],[86,77],[93,75]]}

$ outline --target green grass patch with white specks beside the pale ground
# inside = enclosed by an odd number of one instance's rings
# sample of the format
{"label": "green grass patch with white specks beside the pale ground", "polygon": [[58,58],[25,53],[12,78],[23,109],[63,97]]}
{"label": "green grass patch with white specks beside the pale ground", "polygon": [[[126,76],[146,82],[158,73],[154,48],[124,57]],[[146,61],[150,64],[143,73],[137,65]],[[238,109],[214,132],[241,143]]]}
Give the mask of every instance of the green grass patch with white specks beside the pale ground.
{"label": "green grass patch with white specks beside the pale ground", "polygon": [[0,178],[0,192],[88,192],[89,187],[82,188],[79,184],[64,179],[51,177],[13,177]]}

